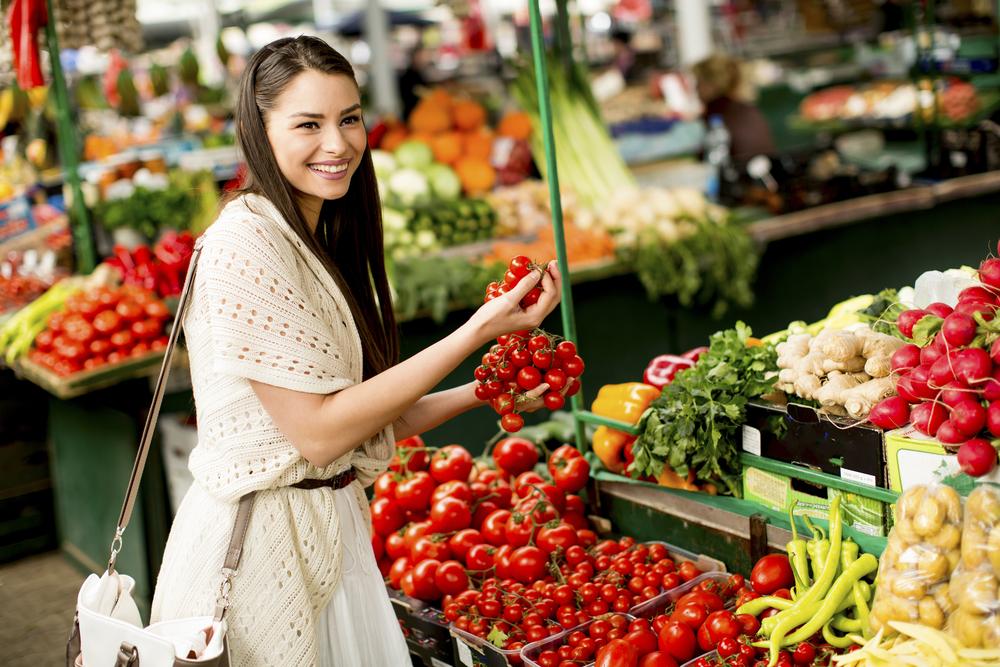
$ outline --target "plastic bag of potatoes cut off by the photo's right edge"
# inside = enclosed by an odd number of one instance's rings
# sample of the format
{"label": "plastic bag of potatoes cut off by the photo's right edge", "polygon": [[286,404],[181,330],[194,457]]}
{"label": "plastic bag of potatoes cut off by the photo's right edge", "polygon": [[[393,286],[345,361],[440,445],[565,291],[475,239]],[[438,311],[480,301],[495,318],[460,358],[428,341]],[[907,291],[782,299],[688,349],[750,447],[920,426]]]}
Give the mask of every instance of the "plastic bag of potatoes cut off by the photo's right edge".
{"label": "plastic bag of potatoes cut off by the photo's right edge", "polygon": [[961,559],[949,587],[948,631],[970,648],[1000,645],[1000,490],[979,486],[965,501]]}

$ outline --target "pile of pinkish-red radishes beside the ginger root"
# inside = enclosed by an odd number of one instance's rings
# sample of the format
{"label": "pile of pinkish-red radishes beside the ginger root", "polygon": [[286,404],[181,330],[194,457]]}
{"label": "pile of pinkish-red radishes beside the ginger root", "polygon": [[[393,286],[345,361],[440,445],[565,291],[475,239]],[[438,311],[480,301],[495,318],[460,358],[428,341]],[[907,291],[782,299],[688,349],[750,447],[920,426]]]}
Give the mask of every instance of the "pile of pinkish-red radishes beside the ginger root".
{"label": "pile of pinkish-red radishes beside the ginger root", "polygon": [[872,408],[869,420],[885,429],[910,422],[958,446],[965,473],[991,472],[1000,447],[998,309],[1000,258],[990,258],[979,266],[979,284],[962,290],[954,308],[932,303],[901,313],[896,326],[913,342],[892,356],[898,395]]}

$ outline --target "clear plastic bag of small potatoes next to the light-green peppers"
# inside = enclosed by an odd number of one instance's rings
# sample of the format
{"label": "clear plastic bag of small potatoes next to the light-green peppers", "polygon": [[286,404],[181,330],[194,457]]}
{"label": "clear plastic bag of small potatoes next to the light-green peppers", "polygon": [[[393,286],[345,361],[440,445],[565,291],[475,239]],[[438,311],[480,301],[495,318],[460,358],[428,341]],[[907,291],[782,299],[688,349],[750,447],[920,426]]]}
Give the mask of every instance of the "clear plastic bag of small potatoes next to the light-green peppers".
{"label": "clear plastic bag of small potatoes next to the light-green peppers", "polygon": [[962,500],[948,486],[916,486],[896,503],[896,523],[879,563],[873,631],[889,621],[938,630],[954,611],[952,571],[961,560]]}

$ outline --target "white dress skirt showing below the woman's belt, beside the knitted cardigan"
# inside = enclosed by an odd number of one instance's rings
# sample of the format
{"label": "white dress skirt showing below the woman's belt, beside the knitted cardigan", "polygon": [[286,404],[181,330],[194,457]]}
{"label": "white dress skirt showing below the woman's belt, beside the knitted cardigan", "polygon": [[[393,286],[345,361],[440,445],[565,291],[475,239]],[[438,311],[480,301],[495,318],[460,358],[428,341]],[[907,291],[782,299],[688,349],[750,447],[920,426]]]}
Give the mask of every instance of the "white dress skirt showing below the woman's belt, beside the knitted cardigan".
{"label": "white dress skirt showing below the woman's belt, beside the knitted cardigan", "polygon": [[[313,491],[317,493],[318,491]],[[328,493],[319,491],[319,493]],[[406,667],[409,649],[385,592],[358,500],[333,492],[344,561],[340,583],[316,621],[320,667]]]}

